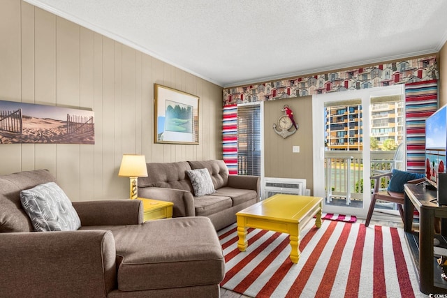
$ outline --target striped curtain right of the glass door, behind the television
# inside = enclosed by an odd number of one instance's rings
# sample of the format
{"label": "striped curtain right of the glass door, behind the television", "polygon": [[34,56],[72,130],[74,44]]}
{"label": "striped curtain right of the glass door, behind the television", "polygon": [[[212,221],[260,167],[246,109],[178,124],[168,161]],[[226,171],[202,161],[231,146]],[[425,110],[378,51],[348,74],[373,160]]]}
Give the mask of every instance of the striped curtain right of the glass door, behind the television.
{"label": "striped curtain right of the glass door, behind the television", "polygon": [[425,170],[425,119],[438,107],[437,80],[405,84],[406,170]]}

